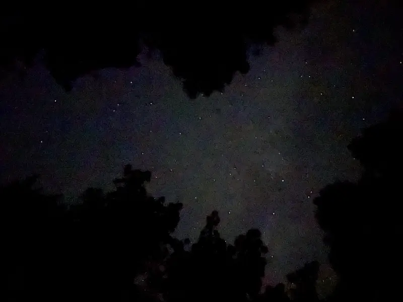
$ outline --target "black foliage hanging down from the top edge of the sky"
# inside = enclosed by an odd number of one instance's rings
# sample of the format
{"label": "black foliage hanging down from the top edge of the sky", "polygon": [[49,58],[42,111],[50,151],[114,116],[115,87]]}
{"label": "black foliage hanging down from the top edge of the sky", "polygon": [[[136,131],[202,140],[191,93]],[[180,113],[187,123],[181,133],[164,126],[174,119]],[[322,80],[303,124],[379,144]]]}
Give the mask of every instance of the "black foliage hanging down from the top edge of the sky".
{"label": "black foliage hanging down from the top edge of the sky", "polygon": [[[146,46],[158,49],[164,63],[183,82],[190,98],[222,91],[236,71],[249,69],[247,50],[276,42],[277,26],[307,23],[319,0],[255,3],[136,1],[130,9],[97,8],[97,14],[64,8],[50,14],[2,18],[1,65],[24,72],[42,53],[54,79],[70,91],[84,74],[106,67],[139,65]],[[259,46],[260,45],[260,46]]]}

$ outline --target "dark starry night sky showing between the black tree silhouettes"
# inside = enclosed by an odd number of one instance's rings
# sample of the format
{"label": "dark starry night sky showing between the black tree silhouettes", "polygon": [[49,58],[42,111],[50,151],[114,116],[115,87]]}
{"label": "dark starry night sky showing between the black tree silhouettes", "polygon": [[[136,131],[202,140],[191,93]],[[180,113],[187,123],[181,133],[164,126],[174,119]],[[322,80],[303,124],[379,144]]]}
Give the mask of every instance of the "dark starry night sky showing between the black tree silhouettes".
{"label": "dark starry night sky showing between the black tree silhouettes", "polygon": [[[401,100],[401,26],[387,1],[329,1],[307,28],[250,57],[224,94],[189,100],[161,59],[106,69],[66,94],[39,62],[0,85],[1,181],[40,173],[69,202],[112,189],[125,164],[150,170],[150,193],[184,203],[179,238],[217,209],[231,243],[251,227],[270,249],[266,282],[317,259],[331,272],[312,198],[358,163],[346,145]],[[375,4],[377,3],[377,4]],[[312,192],[311,192],[312,191]]]}

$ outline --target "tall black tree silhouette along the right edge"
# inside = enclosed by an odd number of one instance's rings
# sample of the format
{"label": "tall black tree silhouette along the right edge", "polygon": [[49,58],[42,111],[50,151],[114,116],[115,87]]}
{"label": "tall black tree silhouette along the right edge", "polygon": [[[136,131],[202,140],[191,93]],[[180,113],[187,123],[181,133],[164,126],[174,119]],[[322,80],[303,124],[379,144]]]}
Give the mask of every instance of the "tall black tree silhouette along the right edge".
{"label": "tall black tree silhouette along the right edge", "polygon": [[340,277],[334,300],[386,301],[393,297],[388,288],[401,280],[402,135],[401,110],[365,129],[349,145],[364,169],[361,179],[328,185],[314,200],[330,263]]}

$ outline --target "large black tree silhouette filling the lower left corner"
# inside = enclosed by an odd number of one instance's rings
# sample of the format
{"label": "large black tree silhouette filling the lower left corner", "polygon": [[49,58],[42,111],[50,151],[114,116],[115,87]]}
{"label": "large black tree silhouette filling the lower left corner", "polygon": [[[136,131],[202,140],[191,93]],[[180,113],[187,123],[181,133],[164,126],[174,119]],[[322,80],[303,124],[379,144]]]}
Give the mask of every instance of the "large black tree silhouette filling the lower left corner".
{"label": "large black tree silhouette filling the lower left corner", "polygon": [[19,281],[10,282],[24,289],[16,300],[129,299],[147,262],[165,258],[161,246],[170,241],[182,204],[147,196],[150,173],[129,165],[115,191],[104,195],[90,188],[69,210],[57,205],[57,196],[33,190],[35,180],[1,191],[7,275],[19,274]]}

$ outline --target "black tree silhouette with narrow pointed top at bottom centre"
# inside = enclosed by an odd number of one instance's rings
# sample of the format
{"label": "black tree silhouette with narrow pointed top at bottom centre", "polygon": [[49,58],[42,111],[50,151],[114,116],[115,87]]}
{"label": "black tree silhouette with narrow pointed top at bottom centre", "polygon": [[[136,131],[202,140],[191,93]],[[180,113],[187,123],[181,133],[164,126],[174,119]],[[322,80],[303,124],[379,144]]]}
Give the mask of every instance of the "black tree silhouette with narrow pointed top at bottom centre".
{"label": "black tree silhouette with narrow pointed top at bottom centre", "polygon": [[166,301],[247,301],[255,299],[264,276],[267,247],[258,230],[240,235],[234,245],[220,237],[217,211],[207,216],[206,226],[189,251],[173,245],[165,270],[151,279],[163,288]]}

